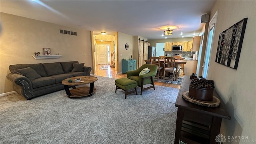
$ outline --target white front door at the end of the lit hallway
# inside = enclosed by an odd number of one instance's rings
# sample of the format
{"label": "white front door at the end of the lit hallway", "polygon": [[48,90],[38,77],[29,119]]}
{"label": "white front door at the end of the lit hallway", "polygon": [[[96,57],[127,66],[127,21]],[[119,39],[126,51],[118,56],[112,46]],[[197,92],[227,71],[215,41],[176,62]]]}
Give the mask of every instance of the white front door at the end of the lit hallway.
{"label": "white front door at the end of the lit hallway", "polygon": [[107,64],[108,54],[106,44],[97,44],[97,60],[98,64]]}

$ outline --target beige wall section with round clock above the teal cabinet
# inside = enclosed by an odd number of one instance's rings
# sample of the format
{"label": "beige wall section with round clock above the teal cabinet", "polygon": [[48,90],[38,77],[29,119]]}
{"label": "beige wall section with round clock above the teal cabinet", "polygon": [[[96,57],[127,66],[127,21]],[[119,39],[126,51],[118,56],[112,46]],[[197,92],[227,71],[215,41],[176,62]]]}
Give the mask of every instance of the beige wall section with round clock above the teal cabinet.
{"label": "beige wall section with round clock above the teal cabinet", "polygon": [[[125,49],[125,44],[129,45],[128,50]],[[118,71],[122,73],[122,59],[129,59],[133,55],[133,36],[118,32]],[[121,56],[122,55],[122,56]]]}

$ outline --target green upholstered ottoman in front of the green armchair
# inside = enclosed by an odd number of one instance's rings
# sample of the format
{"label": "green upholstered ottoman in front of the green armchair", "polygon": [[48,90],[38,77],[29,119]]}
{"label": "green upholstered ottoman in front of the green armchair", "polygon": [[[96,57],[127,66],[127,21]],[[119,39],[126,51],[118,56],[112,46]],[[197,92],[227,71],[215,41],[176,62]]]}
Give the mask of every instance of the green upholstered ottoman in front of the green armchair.
{"label": "green upholstered ottoman in front of the green armchair", "polygon": [[[136,95],[138,95],[137,88],[136,88],[138,86],[138,83],[135,80],[131,80],[129,78],[119,78],[115,80],[115,85],[116,85],[116,90],[122,89],[125,91],[125,98],[127,94],[132,94],[134,92],[136,92]],[[132,88],[134,88],[135,91],[133,90],[129,92],[128,90]]]}

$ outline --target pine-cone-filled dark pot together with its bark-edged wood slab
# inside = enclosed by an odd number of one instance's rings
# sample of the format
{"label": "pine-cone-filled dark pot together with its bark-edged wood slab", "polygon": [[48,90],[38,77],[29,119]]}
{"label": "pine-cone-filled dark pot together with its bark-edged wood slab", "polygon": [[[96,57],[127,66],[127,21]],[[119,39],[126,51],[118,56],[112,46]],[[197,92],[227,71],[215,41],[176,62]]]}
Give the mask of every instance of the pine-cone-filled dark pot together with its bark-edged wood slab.
{"label": "pine-cone-filled dark pot together with its bark-edged wood slab", "polygon": [[[193,78],[194,77],[194,78]],[[202,76],[191,75],[189,91],[184,92],[182,97],[194,104],[208,107],[219,106],[220,100],[214,96],[214,81],[206,80]]]}

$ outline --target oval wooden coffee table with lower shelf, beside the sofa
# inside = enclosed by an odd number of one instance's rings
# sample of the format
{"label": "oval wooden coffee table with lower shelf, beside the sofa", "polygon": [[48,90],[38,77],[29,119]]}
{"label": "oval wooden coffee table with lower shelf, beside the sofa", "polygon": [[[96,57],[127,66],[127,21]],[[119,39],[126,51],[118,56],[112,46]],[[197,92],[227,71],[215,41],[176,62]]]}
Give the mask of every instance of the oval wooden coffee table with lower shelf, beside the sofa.
{"label": "oval wooden coffee table with lower shelf, beside the sofa", "polygon": [[[84,82],[75,82],[76,78],[81,78],[81,81]],[[68,82],[68,80],[71,79],[73,82]],[[66,78],[65,80],[62,80],[62,84],[64,85],[66,94],[69,98],[79,98],[84,96],[92,96],[93,90],[96,90],[94,88],[94,82],[97,81],[98,78],[95,76],[76,76],[72,78]],[[76,88],[76,86],[80,86],[83,84],[90,84],[89,86],[83,86]],[[73,89],[69,90],[69,87],[72,86]]]}

